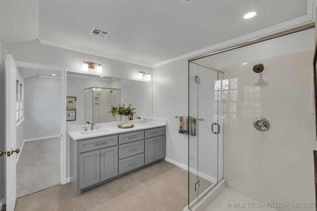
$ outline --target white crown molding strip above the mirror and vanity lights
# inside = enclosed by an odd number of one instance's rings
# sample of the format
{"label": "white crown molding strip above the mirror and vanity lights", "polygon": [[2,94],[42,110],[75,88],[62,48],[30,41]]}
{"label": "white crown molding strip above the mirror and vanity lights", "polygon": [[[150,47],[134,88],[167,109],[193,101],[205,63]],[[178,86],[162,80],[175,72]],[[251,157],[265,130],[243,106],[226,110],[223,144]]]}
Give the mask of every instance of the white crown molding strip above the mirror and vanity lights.
{"label": "white crown molding strip above the mirror and vanity lights", "polygon": [[42,44],[47,44],[47,45],[51,45],[51,46],[54,46],[54,47],[60,47],[60,48],[68,49],[68,50],[74,50],[74,51],[81,52],[81,53],[88,53],[88,54],[92,54],[92,55],[95,55],[95,56],[101,56],[101,57],[105,57],[105,58],[108,58],[108,59],[114,59],[114,60],[118,60],[118,61],[122,61],[122,62],[127,62],[127,63],[131,63],[131,64],[136,64],[136,65],[140,65],[140,66],[144,66],[144,67],[151,67],[152,68],[152,65],[150,65],[150,64],[144,64],[144,63],[141,63],[141,62],[136,62],[136,61],[132,61],[132,60],[128,60],[128,59],[123,59],[123,58],[120,58],[120,57],[108,55],[106,53],[101,53],[101,52],[97,52],[97,51],[93,51],[93,50],[87,50],[87,49],[84,49],[84,48],[75,47],[75,46],[62,44],[62,43],[58,43],[58,42],[47,41],[47,40],[43,40],[43,39],[38,39],[38,40]]}

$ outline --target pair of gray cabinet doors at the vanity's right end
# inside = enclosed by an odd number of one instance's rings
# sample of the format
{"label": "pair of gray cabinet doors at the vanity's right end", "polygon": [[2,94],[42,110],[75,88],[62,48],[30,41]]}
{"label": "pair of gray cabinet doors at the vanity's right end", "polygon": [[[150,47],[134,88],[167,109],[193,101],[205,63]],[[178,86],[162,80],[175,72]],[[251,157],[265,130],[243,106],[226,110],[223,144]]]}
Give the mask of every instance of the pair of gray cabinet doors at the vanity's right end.
{"label": "pair of gray cabinet doors at the vanity's right end", "polygon": [[165,158],[165,143],[165,135],[145,139],[145,164]]}

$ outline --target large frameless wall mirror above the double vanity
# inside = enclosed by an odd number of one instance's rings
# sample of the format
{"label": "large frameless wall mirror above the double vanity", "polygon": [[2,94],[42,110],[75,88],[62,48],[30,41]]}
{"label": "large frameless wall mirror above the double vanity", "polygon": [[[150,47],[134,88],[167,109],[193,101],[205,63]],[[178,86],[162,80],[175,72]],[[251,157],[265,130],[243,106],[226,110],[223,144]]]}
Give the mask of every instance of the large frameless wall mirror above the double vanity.
{"label": "large frameless wall mirror above the double vanity", "polygon": [[153,83],[96,75],[67,73],[67,96],[76,97],[76,120],[67,126],[117,121],[111,105],[132,104],[133,119],[153,118]]}

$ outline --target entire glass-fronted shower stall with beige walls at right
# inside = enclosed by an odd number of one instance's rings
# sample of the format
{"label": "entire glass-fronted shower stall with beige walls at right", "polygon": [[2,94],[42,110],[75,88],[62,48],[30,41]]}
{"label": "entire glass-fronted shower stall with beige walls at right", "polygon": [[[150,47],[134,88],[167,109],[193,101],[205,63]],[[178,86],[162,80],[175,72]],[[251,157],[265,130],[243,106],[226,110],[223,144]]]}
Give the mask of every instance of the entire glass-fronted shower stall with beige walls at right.
{"label": "entire glass-fronted shower stall with beige walls at right", "polygon": [[261,203],[315,203],[312,27],[188,60],[189,210],[224,181]]}

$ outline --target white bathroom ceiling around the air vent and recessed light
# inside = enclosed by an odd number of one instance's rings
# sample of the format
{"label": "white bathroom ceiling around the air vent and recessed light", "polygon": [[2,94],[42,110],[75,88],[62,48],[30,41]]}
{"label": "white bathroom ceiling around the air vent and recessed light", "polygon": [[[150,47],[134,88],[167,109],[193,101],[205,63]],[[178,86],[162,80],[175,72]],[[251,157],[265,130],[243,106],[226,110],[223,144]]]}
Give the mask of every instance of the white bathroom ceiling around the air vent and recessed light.
{"label": "white bathroom ceiling around the air vent and recessed light", "polygon": [[[2,4],[6,5],[6,16],[2,15]],[[10,10],[23,7],[15,3],[10,8],[7,4],[14,1],[1,0],[2,43],[10,42],[7,33],[16,22],[10,19]],[[32,8],[37,9],[34,5]],[[42,40],[149,65],[308,13],[307,0],[194,0],[189,4],[184,0],[43,0],[38,10],[38,37]],[[256,11],[257,16],[243,19],[250,11]],[[22,27],[23,33],[34,33],[36,23],[34,18],[28,19],[30,10],[20,13],[18,27],[30,25],[32,32]],[[2,26],[8,30],[2,30]],[[105,40],[89,35],[92,27],[110,35]]]}

